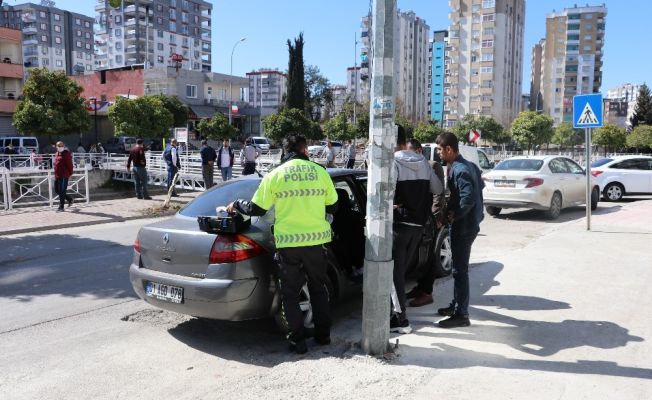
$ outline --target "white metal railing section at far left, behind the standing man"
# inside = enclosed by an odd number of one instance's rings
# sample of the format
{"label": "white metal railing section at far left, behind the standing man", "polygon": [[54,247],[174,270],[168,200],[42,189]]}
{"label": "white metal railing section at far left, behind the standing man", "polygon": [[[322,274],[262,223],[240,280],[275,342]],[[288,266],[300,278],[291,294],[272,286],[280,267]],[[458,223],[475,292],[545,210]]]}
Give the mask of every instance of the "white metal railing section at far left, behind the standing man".
{"label": "white metal railing section at far left, behind the standing man", "polygon": [[[2,208],[11,210],[16,206],[47,205],[52,207],[59,201],[54,190],[52,170],[3,170],[0,171],[2,187]],[[68,179],[66,192],[77,200],[90,201],[88,169],[75,170]]]}

